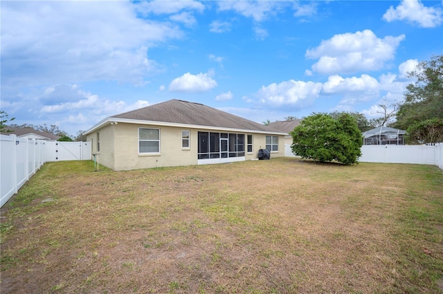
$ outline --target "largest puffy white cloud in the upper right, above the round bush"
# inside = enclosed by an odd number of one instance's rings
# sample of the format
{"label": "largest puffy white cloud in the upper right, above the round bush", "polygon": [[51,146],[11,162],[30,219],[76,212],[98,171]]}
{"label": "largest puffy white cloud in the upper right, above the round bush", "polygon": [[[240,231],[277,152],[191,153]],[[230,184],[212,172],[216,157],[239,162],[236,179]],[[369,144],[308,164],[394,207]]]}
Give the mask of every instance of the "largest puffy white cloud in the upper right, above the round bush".
{"label": "largest puffy white cloud in the upper right, above the round bush", "polygon": [[378,38],[372,30],[334,35],[316,48],[306,51],[306,57],[319,59],[311,68],[317,73],[338,74],[376,71],[395,57],[395,50],[405,38]]}

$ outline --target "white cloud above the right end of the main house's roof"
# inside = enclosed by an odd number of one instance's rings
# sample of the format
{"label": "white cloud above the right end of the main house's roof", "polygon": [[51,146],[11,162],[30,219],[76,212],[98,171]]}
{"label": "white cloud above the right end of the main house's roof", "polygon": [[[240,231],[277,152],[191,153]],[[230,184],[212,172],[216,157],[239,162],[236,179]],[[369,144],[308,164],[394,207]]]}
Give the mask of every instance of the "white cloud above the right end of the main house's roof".
{"label": "white cloud above the right end of the main house's roof", "polygon": [[311,104],[318,97],[321,89],[321,83],[289,80],[280,84],[262,86],[256,96],[261,104],[269,107],[278,108],[284,105],[303,107]]}

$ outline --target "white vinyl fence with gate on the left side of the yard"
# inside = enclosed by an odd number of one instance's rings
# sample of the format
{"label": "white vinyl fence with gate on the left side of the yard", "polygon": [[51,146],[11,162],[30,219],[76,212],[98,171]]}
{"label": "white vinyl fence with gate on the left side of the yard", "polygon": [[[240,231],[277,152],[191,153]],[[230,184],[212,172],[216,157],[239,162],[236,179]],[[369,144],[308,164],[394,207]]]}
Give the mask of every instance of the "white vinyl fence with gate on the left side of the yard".
{"label": "white vinyl fence with gate on the left side of the yard", "polygon": [[0,135],[0,207],[44,163],[59,160],[91,160],[91,144]]}

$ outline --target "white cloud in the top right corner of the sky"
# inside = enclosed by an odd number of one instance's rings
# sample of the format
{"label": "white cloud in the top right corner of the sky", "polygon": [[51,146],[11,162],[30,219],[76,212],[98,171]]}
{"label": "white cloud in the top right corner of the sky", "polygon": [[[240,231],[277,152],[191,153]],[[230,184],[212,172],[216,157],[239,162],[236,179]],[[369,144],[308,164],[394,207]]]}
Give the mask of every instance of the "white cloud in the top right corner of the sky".
{"label": "white cloud in the top right corner of the sky", "polygon": [[388,22],[407,20],[422,28],[435,28],[442,24],[443,12],[440,8],[425,7],[418,0],[403,0],[396,8],[390,6],[383,19]]}

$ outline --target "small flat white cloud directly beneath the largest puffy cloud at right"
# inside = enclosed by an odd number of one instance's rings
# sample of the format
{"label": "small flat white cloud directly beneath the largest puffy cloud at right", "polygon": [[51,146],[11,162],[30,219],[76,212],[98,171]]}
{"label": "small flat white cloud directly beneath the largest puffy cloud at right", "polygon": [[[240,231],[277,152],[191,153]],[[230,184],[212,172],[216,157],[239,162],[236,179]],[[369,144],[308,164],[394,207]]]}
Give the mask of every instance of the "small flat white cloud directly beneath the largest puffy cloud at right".
{"label": "small flat white cloud directly beneath the largest puffy cloud at right", "polygon": [[368,92],[378,91],[379,82],[370,75],[361,75],[361,77],[341,77],[340,75],[331,75],[327,82],[323,84],[323,93],[350,93],[350,92]]}

